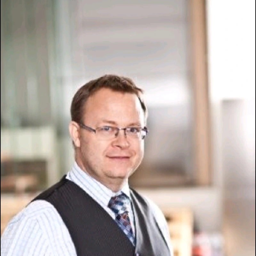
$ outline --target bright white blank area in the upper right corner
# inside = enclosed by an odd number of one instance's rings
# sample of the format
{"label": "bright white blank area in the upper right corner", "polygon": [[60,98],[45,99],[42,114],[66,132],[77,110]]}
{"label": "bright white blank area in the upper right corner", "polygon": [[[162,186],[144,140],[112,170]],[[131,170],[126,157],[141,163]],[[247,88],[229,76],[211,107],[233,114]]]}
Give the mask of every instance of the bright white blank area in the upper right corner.
{"label": "bright white blank area in the upper right corner", "polygon": [[211,100],[255,98],[255,1],[208,0]]}

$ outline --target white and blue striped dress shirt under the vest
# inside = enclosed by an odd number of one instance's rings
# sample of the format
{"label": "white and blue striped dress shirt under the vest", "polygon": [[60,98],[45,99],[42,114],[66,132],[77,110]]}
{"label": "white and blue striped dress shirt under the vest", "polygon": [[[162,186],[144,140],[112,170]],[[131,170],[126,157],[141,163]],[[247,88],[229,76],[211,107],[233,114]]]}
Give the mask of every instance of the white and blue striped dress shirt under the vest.
{"label": "white and blue striped dress shirt under the vest", "polygon": [[[110,198],[122,192],[130,198],[128,183],[124,185],[122,190],[114,193],[82,171],[76,163],[71,171],[68,172],[66,178],[76,183],[89,194],[113,219],[115,219],[115,214],[108,208]],[[149,201],[149,203],[152,205],[155,218],[168,243],[170,255],[172,255],[170,236],[164,216],[153,202]],[[131,202],[128,205],[128,211],[134,231],[134,216]],[[76,249],[68,229],[52,204],[44,200],[36,200],[12,218],[1,237],[1,256],[11,255],[76,255]]]}

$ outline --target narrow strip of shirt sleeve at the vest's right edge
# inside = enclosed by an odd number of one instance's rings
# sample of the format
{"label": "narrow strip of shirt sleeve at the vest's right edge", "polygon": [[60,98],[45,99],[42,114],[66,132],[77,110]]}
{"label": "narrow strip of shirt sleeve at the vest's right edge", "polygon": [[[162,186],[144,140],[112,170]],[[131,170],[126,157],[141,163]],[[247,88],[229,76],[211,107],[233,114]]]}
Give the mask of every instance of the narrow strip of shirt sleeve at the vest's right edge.
{"label": "narrow strip of shirt sleeve at the vest's right edge", "polygon": [[160,208],[148,197],[146,197],[146,200],[148,201],[148,204],[150,205],[152,212],[154,214],[154,217],[156,219],[156,222],[164,236],[164,239],[169,247],[170,255],[173,256],[173,248],[171,243],[171,236],[168,228],[167,221],[164,217],[164,213],[160,210]]}

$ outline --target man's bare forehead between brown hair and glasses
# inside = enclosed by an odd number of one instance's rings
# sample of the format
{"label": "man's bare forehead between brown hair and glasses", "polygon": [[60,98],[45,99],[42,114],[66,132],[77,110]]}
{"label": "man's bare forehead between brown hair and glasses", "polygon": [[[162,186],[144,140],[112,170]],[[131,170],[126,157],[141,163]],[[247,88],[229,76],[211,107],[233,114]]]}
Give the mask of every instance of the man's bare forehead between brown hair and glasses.
{"label": "man's bare forehead between brown hair and glasses", "polygon": [[116,92],[102,88],[88,98],[84,106],[84,118],[89,121],[109,120],[143,122],[144,112],[136,94]]}

